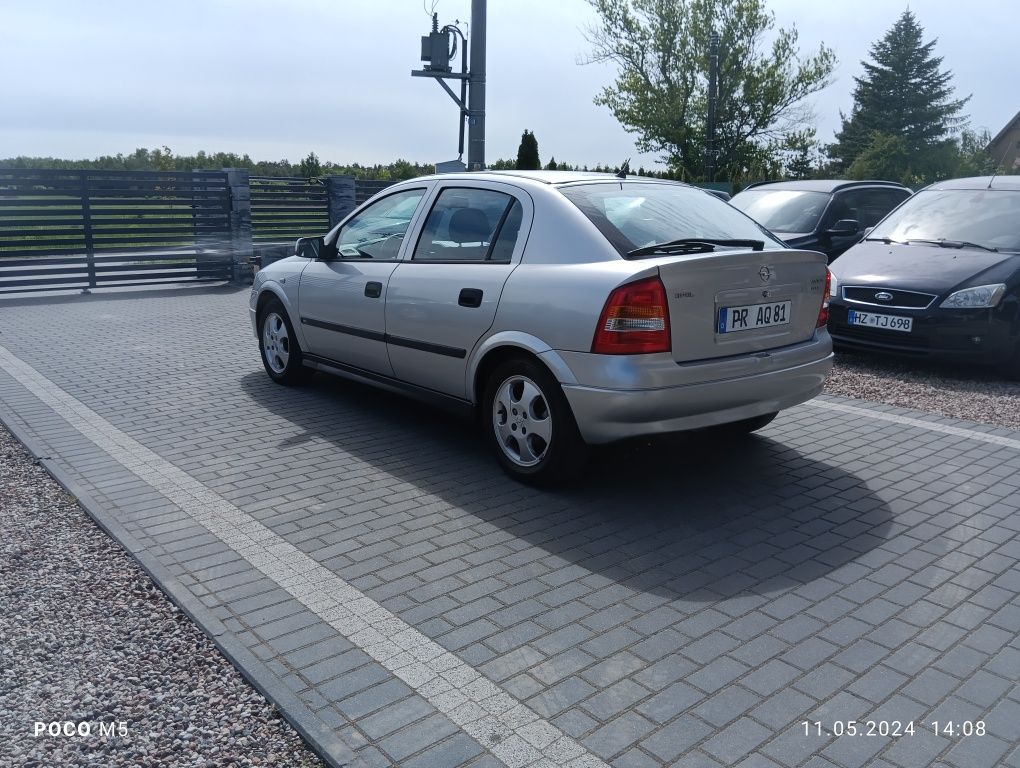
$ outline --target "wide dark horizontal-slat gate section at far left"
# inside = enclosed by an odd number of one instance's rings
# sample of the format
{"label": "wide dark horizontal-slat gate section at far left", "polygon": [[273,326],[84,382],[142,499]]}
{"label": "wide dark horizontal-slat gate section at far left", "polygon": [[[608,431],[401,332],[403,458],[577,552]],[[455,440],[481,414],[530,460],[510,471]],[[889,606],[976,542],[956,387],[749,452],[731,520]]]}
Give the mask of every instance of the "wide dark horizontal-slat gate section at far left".
{"label": "wide dark horizontal-slat gate section at far left", "polygon": [[228,279],[221,171],[0,169],[0,293]]}

